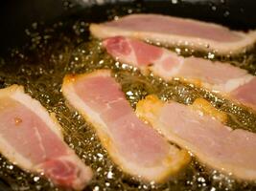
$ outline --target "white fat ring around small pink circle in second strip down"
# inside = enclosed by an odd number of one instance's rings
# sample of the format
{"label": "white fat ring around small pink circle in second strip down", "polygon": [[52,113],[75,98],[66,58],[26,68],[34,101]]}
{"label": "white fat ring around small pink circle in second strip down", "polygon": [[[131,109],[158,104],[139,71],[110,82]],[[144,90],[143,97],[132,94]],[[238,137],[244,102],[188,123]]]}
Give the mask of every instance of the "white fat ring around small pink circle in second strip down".
{"label": "white fat ring around small pink circle in second strip down", "polygon": [[[171,53],[167,50],[164,50],[163,55],[161,56],[160,59],[156,60],[153,65],[150,68],[151,72],[154,74],[157,74],[160,77],[163,77],[166,80],[170,80],[171,78],[175,77],[180,69],[182,68],[184,64],[184,58],[178,55],[175,55],[175,53]],[[163,66],[162,66],[162,61],[170,56],[175,56],[175,58],[178,60],[178,66],[172,69],[172,71],[166,71]]]}

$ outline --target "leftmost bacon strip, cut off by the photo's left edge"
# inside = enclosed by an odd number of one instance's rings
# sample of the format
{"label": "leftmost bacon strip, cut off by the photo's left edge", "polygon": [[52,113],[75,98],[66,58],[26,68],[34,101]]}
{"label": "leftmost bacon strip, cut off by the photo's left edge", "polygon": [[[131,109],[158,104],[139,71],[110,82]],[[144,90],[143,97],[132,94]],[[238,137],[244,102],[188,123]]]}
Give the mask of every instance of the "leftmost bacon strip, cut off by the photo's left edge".
{"label": "leftmost bacon strip, cut off by the photo's left edge", "polygon": [[0,152],[23,170],[77,190],[92,178],[91,169],[63,141],[57,119],[22,86],[0,90],[0,121]]}

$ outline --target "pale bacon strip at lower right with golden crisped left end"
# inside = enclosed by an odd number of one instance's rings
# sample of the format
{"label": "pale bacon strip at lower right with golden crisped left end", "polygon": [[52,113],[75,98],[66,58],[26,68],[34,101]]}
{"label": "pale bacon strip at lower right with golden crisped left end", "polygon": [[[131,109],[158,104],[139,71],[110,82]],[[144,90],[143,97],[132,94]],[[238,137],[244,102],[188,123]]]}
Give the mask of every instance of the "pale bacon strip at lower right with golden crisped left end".
{"label": "pale bacon strip at lower right with golden crisped left end", "polygon": [[137,104],[136,113],[199,160],[244,180],[256,180],[256,134],[232,130],[209,113],[176,102],[148,96]]}

